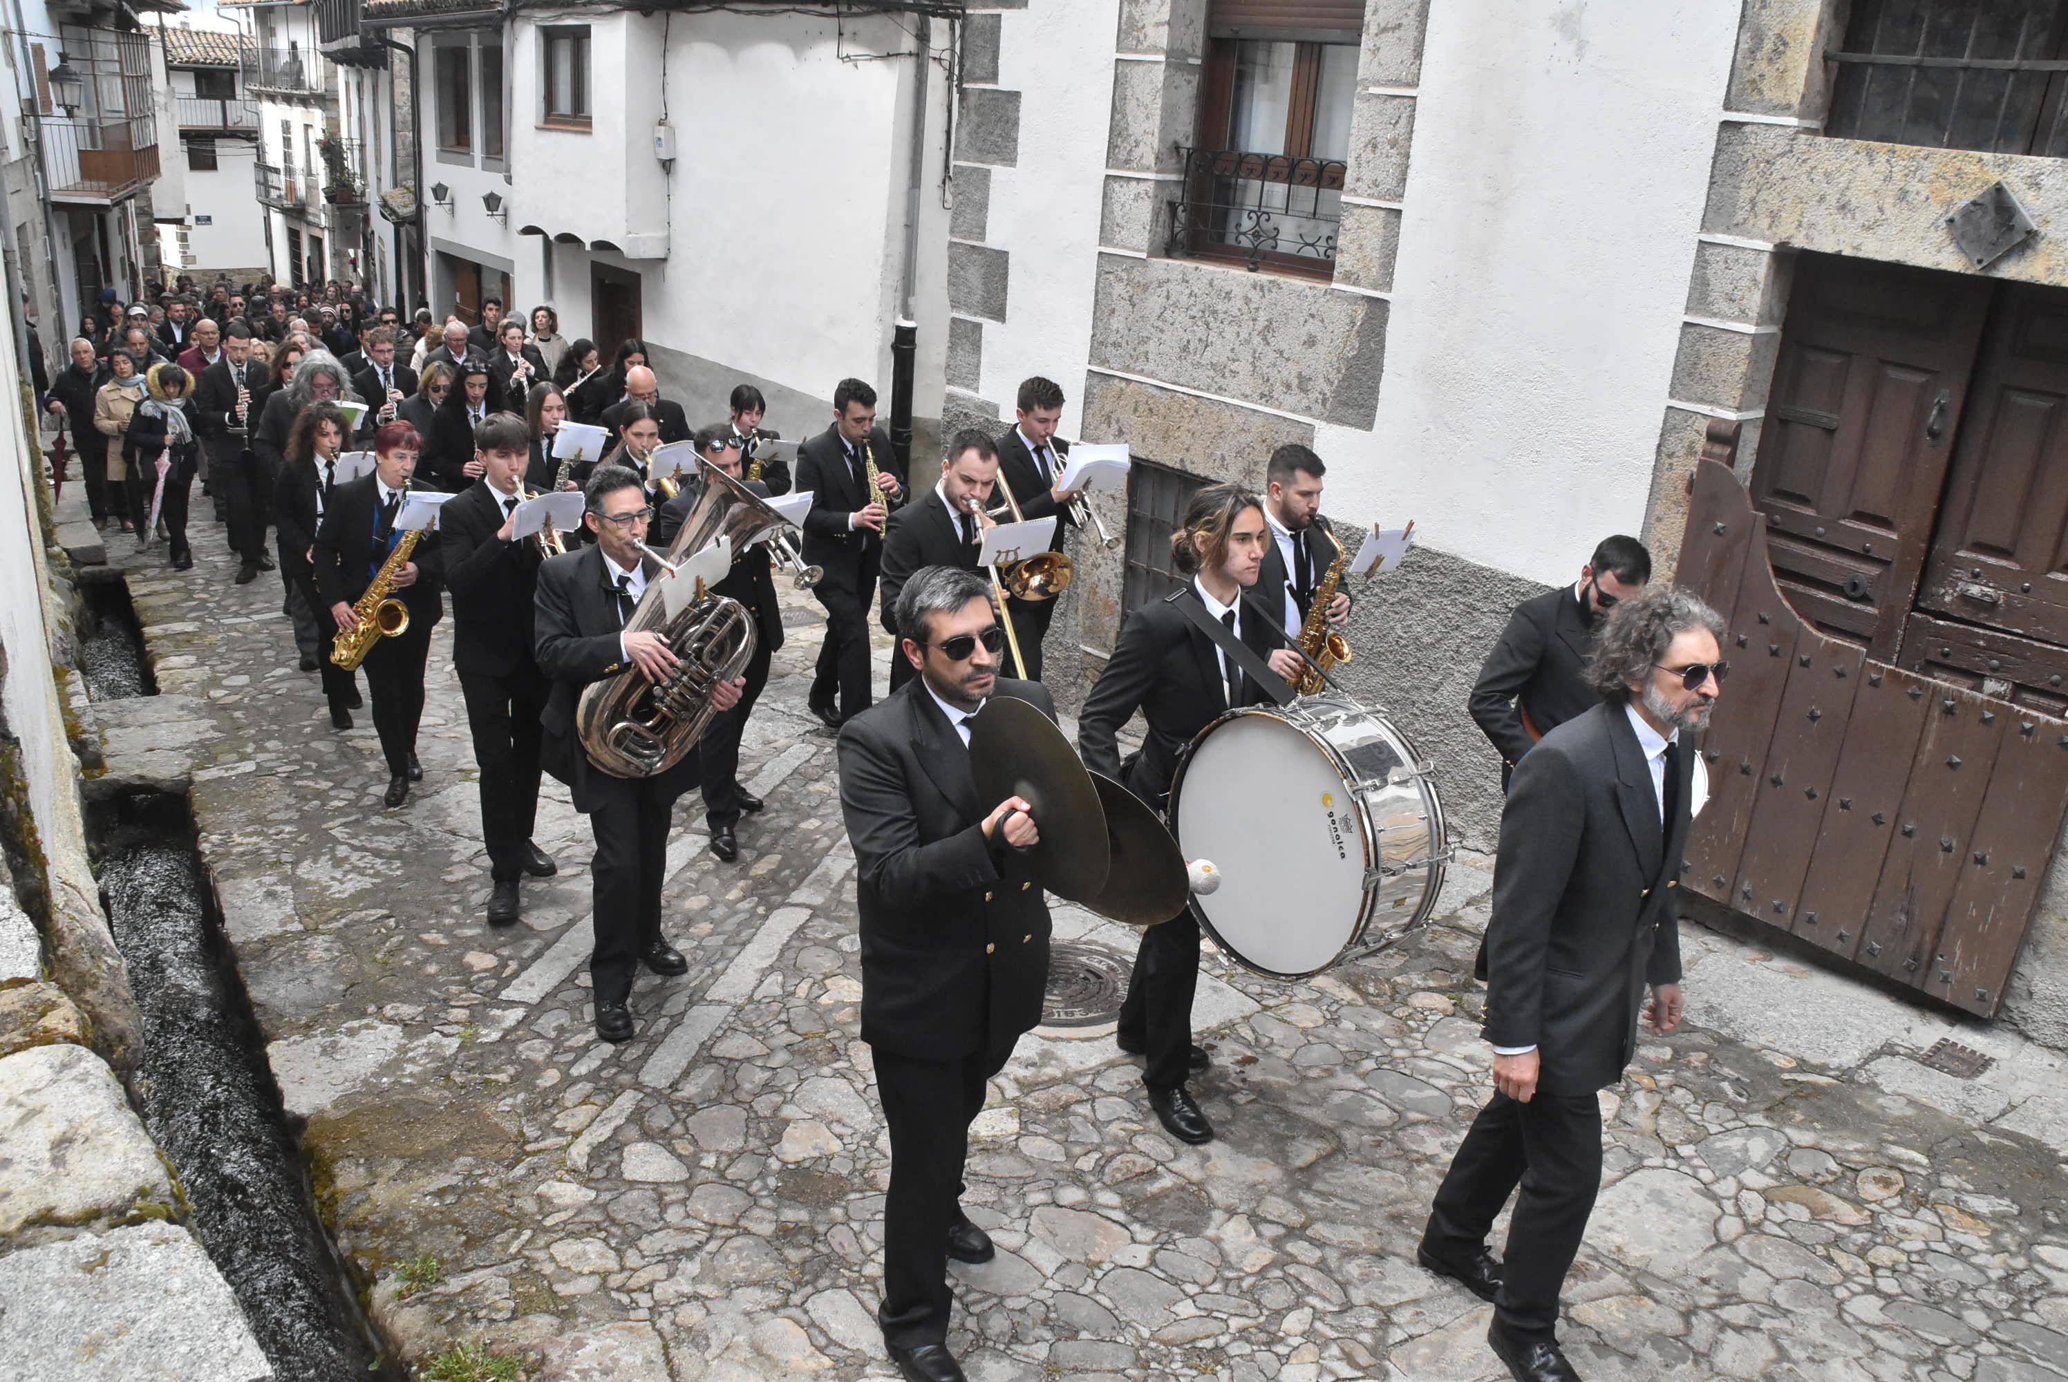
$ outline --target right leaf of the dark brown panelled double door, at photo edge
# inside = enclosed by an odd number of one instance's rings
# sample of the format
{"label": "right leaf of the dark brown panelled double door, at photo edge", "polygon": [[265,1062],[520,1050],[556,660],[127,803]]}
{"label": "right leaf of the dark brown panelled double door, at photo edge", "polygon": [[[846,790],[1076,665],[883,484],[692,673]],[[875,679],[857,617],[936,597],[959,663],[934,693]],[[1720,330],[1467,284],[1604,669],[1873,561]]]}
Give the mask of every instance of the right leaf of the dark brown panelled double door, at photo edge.
{"label": "right leaf of the dark brown panelled double door, at photo edge", "polygon": [[2000,290],[1917,610],[1903,666],[2068,710],[2068,292]]}

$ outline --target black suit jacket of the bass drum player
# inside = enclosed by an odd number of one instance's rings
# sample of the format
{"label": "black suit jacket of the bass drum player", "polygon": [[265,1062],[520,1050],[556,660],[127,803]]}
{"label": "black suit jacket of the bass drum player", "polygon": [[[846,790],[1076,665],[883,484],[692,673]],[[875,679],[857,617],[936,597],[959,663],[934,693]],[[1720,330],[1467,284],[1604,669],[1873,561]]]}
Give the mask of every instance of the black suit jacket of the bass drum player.
{"label": "black suit jacket of the bass drum player", "polygon": [[[1189,600],[1204,612],[1199,594],[1185,585],[1175,596],[1144,604],[1127,617],[1121,641],[1098,674],[1098,685],[1077,716],[1077,751],[1084,765],[1117,778],[1127,790],[1152,807],[1162,807],[1170,794],[1179,753],[1214,718],[1228,710],[1226,683],[1214,639],[1206,637],[1177,608]],[[1259,658],[1270,658],[1286,639],[1278,625],[1261,619],[1251,602],[1243,606],[1243,643]],[[1243,705],[1270,701],[1264,687],[1243,679]],[[1123,770],[1119,728],[1142,712],[1148,734],[1142,753],[1131,755]]]}

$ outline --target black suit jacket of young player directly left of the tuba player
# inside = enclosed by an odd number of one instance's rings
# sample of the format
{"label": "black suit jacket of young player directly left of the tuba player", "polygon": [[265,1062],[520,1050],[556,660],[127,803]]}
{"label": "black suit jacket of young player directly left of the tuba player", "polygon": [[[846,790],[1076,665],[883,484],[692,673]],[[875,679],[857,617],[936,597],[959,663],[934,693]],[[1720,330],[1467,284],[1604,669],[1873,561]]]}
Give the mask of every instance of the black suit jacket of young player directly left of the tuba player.
{"label": "black suit jacket of young player directly left of the tuba player", "polygon": [[538,540],[503,542],[503,497],[476,480],[438,511],[445,585],[453,592],[453,670],[509,677],[531,662]]}

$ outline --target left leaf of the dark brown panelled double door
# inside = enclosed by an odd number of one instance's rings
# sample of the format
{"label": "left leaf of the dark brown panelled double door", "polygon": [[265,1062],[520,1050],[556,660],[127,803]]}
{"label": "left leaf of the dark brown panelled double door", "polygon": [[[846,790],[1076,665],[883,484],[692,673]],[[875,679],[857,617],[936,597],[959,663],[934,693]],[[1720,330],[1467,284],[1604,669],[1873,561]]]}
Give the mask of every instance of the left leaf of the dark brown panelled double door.
{"label": "left leaf of the dark brown panelled double door", "polygon": [[1795,269],[1752,499],[1789,604],[1876,658],[1923,573],[1989,292],[1832,254]]}

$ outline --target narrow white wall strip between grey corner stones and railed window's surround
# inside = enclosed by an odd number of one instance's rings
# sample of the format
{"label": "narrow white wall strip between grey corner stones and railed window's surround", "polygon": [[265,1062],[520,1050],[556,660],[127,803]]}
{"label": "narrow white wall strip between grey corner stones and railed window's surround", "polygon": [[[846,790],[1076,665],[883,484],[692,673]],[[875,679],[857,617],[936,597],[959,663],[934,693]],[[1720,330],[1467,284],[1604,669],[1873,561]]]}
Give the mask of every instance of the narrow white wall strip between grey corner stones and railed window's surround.
{"label": "narrow white wall strip between grey corner stones and railed window's surround", "polygon": [[[1092,350],[1098,219],[1113,120],[1117,0],[1005,10],[999,87],[1020,91],[1020,166],[991,170],[986,244],[1011,254],[1005,325],[984,325],[980,397],[1013,416],[1020,381],[1063,385],[1063,437],[1079,437],[1073,393]],[[1057,54],[1082,52],[1082,62]],[[1075,151],[1055,157],[1055,151]],[[1092,439],[1102,441],[1102,439]]]}

